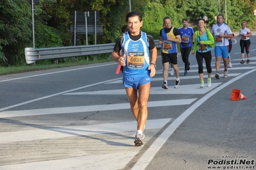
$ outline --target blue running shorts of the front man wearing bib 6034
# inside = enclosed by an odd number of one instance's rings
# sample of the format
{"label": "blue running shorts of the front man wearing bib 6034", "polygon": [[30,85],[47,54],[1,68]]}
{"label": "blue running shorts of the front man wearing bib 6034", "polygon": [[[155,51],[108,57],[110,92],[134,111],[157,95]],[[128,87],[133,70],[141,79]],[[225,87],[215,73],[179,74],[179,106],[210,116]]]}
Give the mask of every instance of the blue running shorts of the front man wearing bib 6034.
{"label": "blue running shorts of the front man wearing bib 6034", "polygon": [[124,88],[135,88],[137,90],[139,86],[151,82],[151,79],[152,77],[149,77],[148,75],[144,77],[124,77]]}

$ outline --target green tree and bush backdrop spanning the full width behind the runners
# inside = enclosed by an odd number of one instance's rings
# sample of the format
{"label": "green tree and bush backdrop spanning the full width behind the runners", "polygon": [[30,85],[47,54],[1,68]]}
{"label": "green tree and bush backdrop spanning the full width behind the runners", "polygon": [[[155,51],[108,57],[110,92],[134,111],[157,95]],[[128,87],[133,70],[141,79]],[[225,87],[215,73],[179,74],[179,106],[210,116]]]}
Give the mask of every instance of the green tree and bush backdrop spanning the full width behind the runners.
{"label": "green tree and bush backdrop spanning the full width behind the runners", "polygon": [[[245,20],[250,29],[255,28],[256,9],[254,0],[219,0],[221,14],[231,28],[239,29]],[[207,27],[216,23],[219,14],[218,1],[200,0],[132,0],[132,11],[142,13],[142,31],[158,39],[163,18],[171,17],[172,25],[182,26],[187,18],[194,29],[200,17],[207,16]],[[226,10],[226,11],[225,11]],[[103,34],[96,35],[97,43],[114,43],[126,24],[130,11],[128,0],[39,0],[35,5],[35,47],[69,46],[74,11],[99,12],[99,24]],[[33,46],[31,6],[27,0],[0,1],[0,66],[24,65],[24,48]],[[94,44],[95,36],[88,42]],[[80,44],[85,45],[86,36],[80,35]]]}

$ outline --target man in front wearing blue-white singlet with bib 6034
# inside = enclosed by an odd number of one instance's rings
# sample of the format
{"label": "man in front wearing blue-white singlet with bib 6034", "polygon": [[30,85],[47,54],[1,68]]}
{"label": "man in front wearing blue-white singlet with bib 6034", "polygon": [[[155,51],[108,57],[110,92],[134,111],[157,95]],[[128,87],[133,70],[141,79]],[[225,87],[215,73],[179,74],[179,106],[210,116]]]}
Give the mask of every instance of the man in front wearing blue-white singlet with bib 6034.
{"label": "man in front wearing blue-white singlet with bib 6034", "polygon": [[[143,130],[148,118],[150,82],[155,75],[157,48],[153,37],[141,31],[143,21],[140,12],[128,13],[126,22],[129,31],[117,38],[112,59],[123,66],[124,88],[137,121],[134,143],[135,146],[141,146],[145,137]],[[120,50],[123,56],[119,56]]]}

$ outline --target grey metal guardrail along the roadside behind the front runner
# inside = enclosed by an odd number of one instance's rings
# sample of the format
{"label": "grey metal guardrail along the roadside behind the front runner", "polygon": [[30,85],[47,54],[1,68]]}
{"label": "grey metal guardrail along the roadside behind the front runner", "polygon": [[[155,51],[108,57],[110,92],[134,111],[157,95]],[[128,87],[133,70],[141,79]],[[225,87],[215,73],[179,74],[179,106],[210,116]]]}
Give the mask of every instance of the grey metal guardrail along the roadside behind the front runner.
{"label": "grey metal guardrail along the roadside behind the front runner", "polygon": [[[155,40],[157,48],[161,46],[158,44],[158,40]],[[34,49],[31,47],[25,48],[26,63],[35,63],[37,60],[44,59],[59,59],[59,58],[71,58],[78,56],[89,56],[95,54],[107,54],[112,53],[115,43],[105,43],[98,45],[81,45],[81,46],[68,46],[68,47],[51,47]]]}

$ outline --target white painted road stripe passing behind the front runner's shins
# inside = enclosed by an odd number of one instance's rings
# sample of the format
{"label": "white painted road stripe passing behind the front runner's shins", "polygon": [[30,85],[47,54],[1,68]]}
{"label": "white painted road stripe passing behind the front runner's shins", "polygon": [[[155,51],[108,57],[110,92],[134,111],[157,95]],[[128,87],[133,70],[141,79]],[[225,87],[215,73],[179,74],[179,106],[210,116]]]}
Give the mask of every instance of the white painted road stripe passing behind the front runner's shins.
{"label": "white painted road stripe passing behind the front runner's shins", "polygon": [[[162,128],[171,120],[148,120],[146,129]],[[61,137],[73,137],[80,135],[108,134],[117,132],[128,132],[137,130],[137,121],[126,121],[119,123],[103,123],[99,125],[69,126],[45,128],[36,130],[24,130],[16,132],[0,133],[0,143],[13,143],[19,141],[33,141],[40,139],[56,139]]]}

